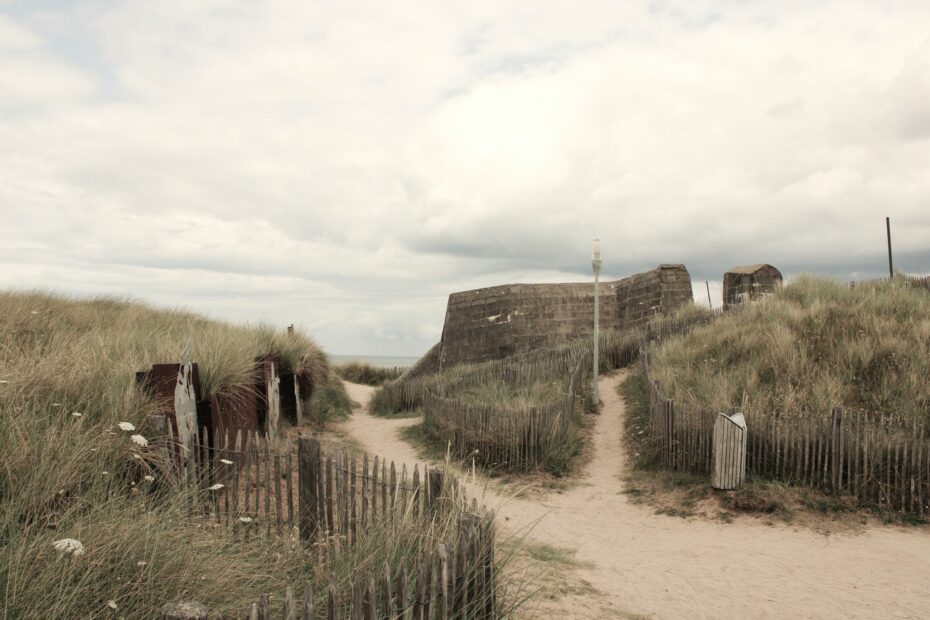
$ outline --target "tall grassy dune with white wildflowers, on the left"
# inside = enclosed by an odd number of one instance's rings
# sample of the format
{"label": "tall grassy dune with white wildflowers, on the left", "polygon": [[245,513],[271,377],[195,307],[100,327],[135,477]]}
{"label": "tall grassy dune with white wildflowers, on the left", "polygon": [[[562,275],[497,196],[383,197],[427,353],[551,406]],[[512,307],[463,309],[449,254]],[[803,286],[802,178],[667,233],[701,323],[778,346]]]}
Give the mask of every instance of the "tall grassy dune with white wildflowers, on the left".
{"label": "tall grassy dune with white wildflowers, on the left", "polygon": [[[255,357],[269,352],[317,386],[338,385],[299,333],[115,299],[0,294],[6,617],[152,617],[176,598],[231,609],[302,583],[308,562],[289,540],[246,543],[192,521],[181,489],[117,426],[142,428],[154,407],[135,371],[177,361],[188,338],[207,397],[251,385]],[[59,553],[63,539],[83,553]]]}

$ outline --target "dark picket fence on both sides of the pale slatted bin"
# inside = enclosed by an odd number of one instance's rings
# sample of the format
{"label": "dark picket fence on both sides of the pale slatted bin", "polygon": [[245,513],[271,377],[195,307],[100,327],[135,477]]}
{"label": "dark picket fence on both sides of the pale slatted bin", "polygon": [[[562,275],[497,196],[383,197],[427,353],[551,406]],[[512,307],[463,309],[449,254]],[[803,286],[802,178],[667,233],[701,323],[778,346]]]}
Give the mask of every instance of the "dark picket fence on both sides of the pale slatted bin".
{"label": "dark picket fence on both sides of the pale slatted bin", "polygon": [[[643,358],[647,359],[646,356]],[[668,469],[710,475],[716,414],[682,408],[649,381],[651,447]],[[744,413],[747,471],[823,491],[855,496],[863,505],[930,514],[930,436],[861,411],[829,416]]]}

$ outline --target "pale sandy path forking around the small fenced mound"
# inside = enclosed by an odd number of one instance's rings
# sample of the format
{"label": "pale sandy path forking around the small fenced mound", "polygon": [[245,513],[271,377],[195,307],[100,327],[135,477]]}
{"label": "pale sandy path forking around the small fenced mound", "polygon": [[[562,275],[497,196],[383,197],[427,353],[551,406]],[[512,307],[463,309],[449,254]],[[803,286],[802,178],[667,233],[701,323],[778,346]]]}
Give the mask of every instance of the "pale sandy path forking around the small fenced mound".
{"label": "pale sandy path forking around the small fenced mound", "polygon": [[[561,599],[561,615],[930,618],[930,534],[924,530],[877,527],[825,536],[751,519],[684,520],[630,503],[619,477],[625,415],[619,381],[616,375],[601,380],[604,408],[581,485],[542,499],[485,497],[505,528],[535,524],[532,539],[577,550],[586,565],[576,570],[601,595]],[[373,391],[347,388],[362,404]],[[357,410],[347,430],[373,453],[414,463],[416,452],[398,431],[416,422]]]}

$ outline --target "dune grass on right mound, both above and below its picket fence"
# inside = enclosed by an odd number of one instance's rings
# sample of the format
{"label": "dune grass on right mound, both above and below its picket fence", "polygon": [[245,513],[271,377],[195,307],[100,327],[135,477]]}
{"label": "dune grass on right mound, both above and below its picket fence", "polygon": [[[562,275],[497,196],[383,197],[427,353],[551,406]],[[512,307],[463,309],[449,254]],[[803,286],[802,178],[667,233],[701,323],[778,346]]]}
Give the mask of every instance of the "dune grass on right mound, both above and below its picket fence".
{"label": "dune grass on right mound, both above and below its picket fence", "polygon": [[[656,342],[650,347],[650,376],[681,411],[748,414],[750,440],[752,425],[760,421],[827,423],[834,406],[873,422],[880,419],[882,428],[907,435],[930,422],[930,295],[913,284],[896,278],[850,287],[799,278],[773,295]],[[661,471],[641,365],[633,367],[622,394],[628,405],[628,454],[643,474],[637,484],[654,490],[671,480],[676,492],[687,491],[689,501],[710,497],[706,477]],[[738,492],[722,496],[721,505],[786,520],[795,513],[805,519],[811,514],[860,519],[854,513],[866,508],[883,520],[923,522],[913,507],[898,511],[876,503],[870,493],[843,495],[791,483],[751,474]]]}

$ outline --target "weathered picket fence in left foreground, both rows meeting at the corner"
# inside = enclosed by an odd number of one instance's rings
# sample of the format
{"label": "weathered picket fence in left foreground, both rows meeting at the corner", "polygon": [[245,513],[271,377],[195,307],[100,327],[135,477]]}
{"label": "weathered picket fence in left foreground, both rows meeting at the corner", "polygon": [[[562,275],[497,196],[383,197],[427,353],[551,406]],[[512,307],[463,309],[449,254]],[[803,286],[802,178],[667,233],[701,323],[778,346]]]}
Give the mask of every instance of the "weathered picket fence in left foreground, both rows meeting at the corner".
{"label": "weathered picket fence in left foreground, both rows meeting at the corner", "polygon": [[[461,489],[440,469],[417,464],[408,471],[367,454],[326,454],[312,437],[237,433],[211,442],[204,431],[185,448],[171,437],[153,448],[165,451],[176,479],[191,489],[192,513],[246,537],[297,535],[315,543],[308,547],[314,553],[354,545],[366,534],[390,536],[392,528],[458,519],[454,539],[401,558],[393,572],[385,565],[352,583],[331,579],[319,588],[320,600],[309,583],[299,603],[289,589],[280,613],[265,596],[239,616],[220,617],[497,617],[494,514],[474,499],[465,508]],[[170,608],[160,617],[174,617]]]}

